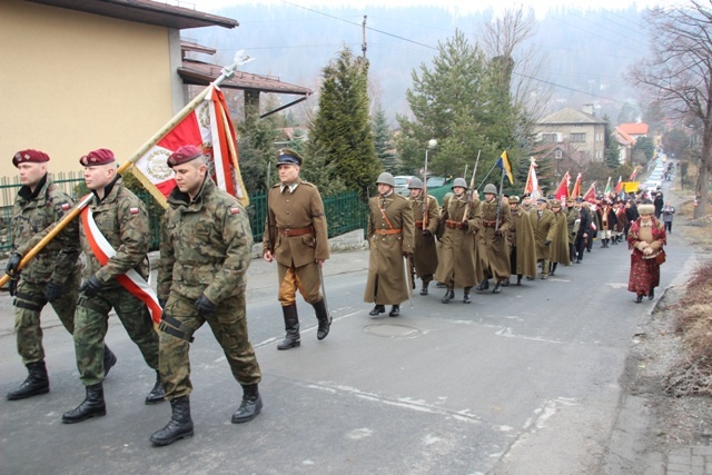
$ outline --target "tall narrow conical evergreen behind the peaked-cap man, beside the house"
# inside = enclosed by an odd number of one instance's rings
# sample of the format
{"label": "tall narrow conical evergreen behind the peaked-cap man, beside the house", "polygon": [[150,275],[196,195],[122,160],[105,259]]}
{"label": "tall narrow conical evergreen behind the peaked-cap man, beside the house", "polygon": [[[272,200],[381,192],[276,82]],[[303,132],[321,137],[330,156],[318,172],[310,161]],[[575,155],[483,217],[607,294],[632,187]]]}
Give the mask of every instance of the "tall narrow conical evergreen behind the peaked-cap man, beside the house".
{"label": "tall narrow conical evergreen behind the peaked-cap man, beside the house", "polygon": [[368,119],[368,62],[345,48],[323,73],[305,175],[324,192],[346,187],[365,197],[382,170]]}

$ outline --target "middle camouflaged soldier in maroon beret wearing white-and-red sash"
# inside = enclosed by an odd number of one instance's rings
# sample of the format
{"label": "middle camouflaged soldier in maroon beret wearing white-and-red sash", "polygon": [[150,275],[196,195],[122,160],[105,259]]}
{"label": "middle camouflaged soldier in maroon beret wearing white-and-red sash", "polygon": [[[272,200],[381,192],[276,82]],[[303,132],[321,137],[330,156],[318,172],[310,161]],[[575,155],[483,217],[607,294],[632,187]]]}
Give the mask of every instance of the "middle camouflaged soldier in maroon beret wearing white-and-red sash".
{"label": "middle camouflaged soldier in maroon beret wearing white-and-red sash", "polygon": [[121,177],[116,172],[111,150],[90,151],[79,162],[85,167],[87,187],[93,194],[93,200],[85,212],[91,210],[98,231],[116,254],[102,265],[92,250],[91,229],[81,224],[81,249],[87,265],[75,313],[75,352],[79,378],[86,386],[87,396],[79,406],[62,415],[66,424],[106,415],[102,353],[112,308],[148,366],[156,370],[156,384],[146,396],[146,404],[164,400],[158,375],[158,335],[154,331],[148,308],[116,279],[131,269],[142,278],[148,277],[146,207],[123,187]]}

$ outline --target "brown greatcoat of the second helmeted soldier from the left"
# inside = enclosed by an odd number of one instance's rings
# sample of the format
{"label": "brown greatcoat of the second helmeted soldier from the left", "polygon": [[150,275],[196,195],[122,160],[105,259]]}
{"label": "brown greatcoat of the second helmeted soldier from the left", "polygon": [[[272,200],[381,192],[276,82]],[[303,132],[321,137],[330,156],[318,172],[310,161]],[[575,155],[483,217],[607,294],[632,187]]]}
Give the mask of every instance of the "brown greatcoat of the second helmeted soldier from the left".
{"label": "brown greatcoat of the second helmeted soldier from the left", "polygon": [[[437,269],[437,248],[435,246],[435,235],[439,224],[439,210],[437,199],[427,197],[427,219],[423,227],[423,210],[425,200],[423,197],[409,198],[413,208],[413,219],[415,220],[415,250],[413,253],[413,267],[415,274],[423,279],[423,284],[433,280],[433,274]],[[423,234],[429,231],[429,236]]]}

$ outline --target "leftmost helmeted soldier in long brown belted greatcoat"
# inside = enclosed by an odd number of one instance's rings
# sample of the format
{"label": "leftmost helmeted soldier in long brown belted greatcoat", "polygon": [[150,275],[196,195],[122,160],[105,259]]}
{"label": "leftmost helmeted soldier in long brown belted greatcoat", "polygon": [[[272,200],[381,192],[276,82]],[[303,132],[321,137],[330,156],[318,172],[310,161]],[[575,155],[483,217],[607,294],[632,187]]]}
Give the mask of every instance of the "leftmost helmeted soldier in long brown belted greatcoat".
{"label": "leftmost helmeted soldier in long brown belted greatcoat", "polygon": [[407,198],[394,191],[393,175],[383,172],[376,180],[378,196],[368,200],[368,278],[364,301],[375,303],[368,315],[377,316],[390,305],[392,317],[400,315],[400,303],[408,299],[409,286],[403,257],[414,248],[415,224]]}

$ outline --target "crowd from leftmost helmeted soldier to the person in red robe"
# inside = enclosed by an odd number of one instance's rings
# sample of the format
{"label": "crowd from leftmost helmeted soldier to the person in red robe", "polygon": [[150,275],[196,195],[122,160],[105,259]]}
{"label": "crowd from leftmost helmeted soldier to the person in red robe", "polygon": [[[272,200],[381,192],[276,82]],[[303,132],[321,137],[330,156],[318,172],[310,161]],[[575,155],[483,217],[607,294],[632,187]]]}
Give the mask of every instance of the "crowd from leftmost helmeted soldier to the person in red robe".
{"label": "crowd from leftmost helmeted soldier to the person in red robe", "polygon": [[[378,196],[369,200],[370,260],[364,294],[364,301],[375,304],[372,316],[385,313],[388,305],[388,315],[398,316],[400,304],[416,288],[416,277],[421,295],[428,295],[435,280],[445,289],[443,304],[456,299],[456,289],[462,289],[462,301],[471,304],[473,289],[488,291],[492,286],[492,293],[500,294],[523,279],[555,276],[558,265],[582,264],[594,240],[604,249],[624,244],[631,248],[629,290],[636,303],[643,296],[652,299],[660,283],[664,259],[659,256],[664,256],[665,229],[672,229],[674,214],[670,202],[657,212],[660,189],[653,200],[641,190],[589,202],[581,197],[500,195],[487,184],[481,200],[477,190],[456,178],[453,192],[438,207],[417,177],[408,184],[408,198],[395,192],[390,174],[382,174],[377,185]],[[654,232],[649,234],[651,226]]]}

